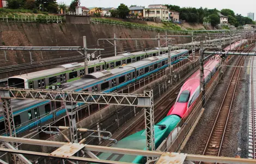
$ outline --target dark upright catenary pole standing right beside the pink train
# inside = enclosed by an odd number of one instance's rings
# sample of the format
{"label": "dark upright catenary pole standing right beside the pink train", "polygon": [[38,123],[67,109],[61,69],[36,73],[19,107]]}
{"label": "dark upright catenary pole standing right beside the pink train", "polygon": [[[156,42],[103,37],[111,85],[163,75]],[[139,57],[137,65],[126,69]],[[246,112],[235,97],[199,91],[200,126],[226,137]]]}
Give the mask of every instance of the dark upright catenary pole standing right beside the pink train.
{"label": "dark upright catenary pole standing right beside the pink train", "polygon": [[204,104],[204,49],[203,40],[200,41],[200,90],[202,91],[202,99]]}

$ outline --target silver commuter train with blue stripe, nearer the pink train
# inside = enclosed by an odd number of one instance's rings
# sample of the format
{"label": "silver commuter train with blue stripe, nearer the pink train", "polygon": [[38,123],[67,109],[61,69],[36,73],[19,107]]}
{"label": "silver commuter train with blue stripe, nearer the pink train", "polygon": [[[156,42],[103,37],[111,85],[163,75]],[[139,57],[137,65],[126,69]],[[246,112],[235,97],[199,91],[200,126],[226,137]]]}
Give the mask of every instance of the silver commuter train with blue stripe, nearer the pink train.
{"label": "silver commuter train with blue stripe, nearer the pink train", "polygon": [[[180,52],[184,54],[188,53],[187,50],[180,50],[179,52],[173,52],[172,57],[180,54]],[[60,89],[113,92],[131,83],[135,83],[137,80],[147,77],[151,73],[158,72],[167,66],[168,54],[151,56],[129,65],[87,74],[84,78],[65,83],[63,88]],[[11,100],[11,106],[13,108],[16,132],[18,133],[32,128],[37,124],[44,123],[53,117],[62,115],[65,112],[65,109],[52,112],[54,109],[59,109],[62,106],[60,102],[14,99]],[[3,112],[2,106],[0,107],[0,111]],[[48,115],[46,116],[46,114]],[[0,130],[4,132],[3,117],[0,117]]]}

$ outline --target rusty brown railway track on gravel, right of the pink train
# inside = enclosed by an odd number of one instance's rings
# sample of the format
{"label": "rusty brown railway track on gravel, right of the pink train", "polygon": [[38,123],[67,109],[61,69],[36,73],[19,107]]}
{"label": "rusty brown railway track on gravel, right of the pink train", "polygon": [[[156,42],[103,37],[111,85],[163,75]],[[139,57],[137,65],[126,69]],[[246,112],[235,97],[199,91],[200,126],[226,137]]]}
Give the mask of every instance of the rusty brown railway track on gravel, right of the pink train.
{"label": "rusty brown railway track on gravel, right of the pink train", "polygon": [[[250,50],[252,48],[253,47],[250,47],[250,48],[248,48],[248,50]],[[239,75],[240,75],[241,68],[242,68],[240,66],[243,65],[244,61],[245,61],[245,56],[241,56],[239,58],[239,61],[236,65],[236,67],[233,68],[234,72],[231,76],[229,85],[224,94],[224,98],[221,103],[221,107],[218,110],[218,114],[215,119],[211,133],[209,135],[208,141],[204,147],[203,155],[219,156],[221,153],[223,138],[225,135],[225,130],[227,129],[229,115],[230,115],[231,107],[233,104],[233,99],[235,96],[235,90],[236,90],[237,82],[239,80]]]}

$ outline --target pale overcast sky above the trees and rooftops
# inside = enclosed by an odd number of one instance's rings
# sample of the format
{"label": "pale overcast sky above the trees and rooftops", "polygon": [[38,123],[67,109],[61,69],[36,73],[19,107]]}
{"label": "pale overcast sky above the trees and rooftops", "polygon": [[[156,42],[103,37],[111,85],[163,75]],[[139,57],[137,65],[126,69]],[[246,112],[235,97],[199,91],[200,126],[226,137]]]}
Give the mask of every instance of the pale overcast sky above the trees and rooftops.
{"label": "pale overcast sky above the trees and rooftops", "polygon": [[[58,3],[64,2],[69,5],[71,0],[57,0]],[[120,3],[126,4],[128,7],[132,4],[141,5],[147,7],[149,4],[172,4],[179,5],[180,7],[196,7],[196,8],[217,8],[231,9],[236,14],[247,16],[248,12],[256,12],[255,0],[81,0],[81,6],[85,7],[114,7],[117,8]]]}

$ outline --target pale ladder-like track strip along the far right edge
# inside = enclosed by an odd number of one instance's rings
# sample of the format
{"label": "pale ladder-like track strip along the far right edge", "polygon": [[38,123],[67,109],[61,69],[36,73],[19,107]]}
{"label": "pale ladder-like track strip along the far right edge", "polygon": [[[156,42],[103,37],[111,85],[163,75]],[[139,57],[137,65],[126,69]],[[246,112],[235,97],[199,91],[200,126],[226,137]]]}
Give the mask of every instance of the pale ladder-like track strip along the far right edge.
{"label": "pale ladder-like track strip along the far right edge", "polygon": [[[254,76],[255,74],[255,76]],[[249,153],[250,159],[256,159],[256,58],[252,58],[251,86],[249,87]],[[255,99],[255,100],[254,100]]]}

